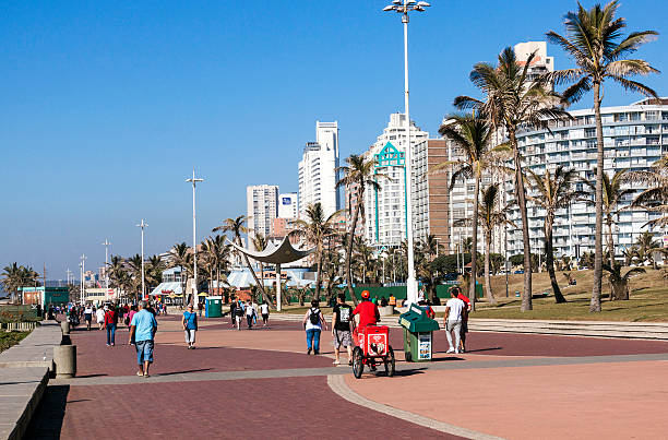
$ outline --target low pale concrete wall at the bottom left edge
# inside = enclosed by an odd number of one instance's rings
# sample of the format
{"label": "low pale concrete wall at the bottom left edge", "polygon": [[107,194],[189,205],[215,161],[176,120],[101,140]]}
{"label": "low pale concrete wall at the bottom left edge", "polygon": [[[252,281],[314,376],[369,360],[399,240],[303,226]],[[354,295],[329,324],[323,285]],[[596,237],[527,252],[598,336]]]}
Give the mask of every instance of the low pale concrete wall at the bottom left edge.
{"label": "low pale concrete wall at the bottom left edge", "polygon": [[53,346],[62,342],[56,321],[41,321],[21,343],[0,353],[0,439],[21,439],[53,371]]}

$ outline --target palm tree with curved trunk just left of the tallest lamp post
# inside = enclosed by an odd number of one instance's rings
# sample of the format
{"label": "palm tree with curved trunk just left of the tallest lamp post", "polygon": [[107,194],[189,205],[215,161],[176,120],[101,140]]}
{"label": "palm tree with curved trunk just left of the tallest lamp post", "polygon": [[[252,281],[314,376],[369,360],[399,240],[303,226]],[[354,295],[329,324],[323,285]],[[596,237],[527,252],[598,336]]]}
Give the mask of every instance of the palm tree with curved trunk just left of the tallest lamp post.
{"label": "palm tree with curved trunk just left of the tallest lamp post", "polygon": [[357,197],[357,203],[355,203],[355,206],[353,207],[353,221],[350,223],[350,230],[347,237],[345,271],[348,295],[350,295],[350,298],[353,298],[353,302],[357,305],[357,297],[355,296],[355,290],[353,290],[353,240],[357,229],[359,214],[363,214],[365,192],[367,187],[380,190],[381,185],[379,180],[391,179],[387,175],[378,173],[375,170],[374,158],[367,158],[367,156],[363,154],[353,154],[346,158],[346,163],[348,165],[337,168],[338,171],[343,171],[344,177],[336,182],[336,188],[344,186],[356,189],[355,195]]}

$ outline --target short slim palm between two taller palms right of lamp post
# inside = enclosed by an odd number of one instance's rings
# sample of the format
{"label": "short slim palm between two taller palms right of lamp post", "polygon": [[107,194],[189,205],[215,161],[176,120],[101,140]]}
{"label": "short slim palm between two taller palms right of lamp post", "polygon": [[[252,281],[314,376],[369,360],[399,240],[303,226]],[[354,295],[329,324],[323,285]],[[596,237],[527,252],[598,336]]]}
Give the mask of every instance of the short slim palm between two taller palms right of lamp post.
{"label": "short slim palm between two taller palms right of lamp post", "polygon": [[505,223],[513,224],[508,219],[508,211],[510,205],[499,206],[499,183],[493,183],[482,190],[482,197],[478,206],[478,223],[485,233],[485,294],[487,300],[491,305],[497,304],[497,298],[491,290],[490,272],[490,255],[491,240],[494,228]]}

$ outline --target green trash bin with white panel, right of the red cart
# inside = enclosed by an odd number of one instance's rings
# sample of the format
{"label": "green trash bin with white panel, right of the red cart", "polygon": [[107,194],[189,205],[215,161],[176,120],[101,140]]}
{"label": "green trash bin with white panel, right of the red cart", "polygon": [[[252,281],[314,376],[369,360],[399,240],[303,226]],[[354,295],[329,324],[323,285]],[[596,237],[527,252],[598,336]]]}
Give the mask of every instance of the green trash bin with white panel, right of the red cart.
{"label": "green trash bin with white panel, right of the red cart", "polygon": [[399,314],[399,325],[404,329],[406,361],[431,361],[432,332],[439,330],[439,323],[427,317],[421,307],[410,305],[408,311]]}

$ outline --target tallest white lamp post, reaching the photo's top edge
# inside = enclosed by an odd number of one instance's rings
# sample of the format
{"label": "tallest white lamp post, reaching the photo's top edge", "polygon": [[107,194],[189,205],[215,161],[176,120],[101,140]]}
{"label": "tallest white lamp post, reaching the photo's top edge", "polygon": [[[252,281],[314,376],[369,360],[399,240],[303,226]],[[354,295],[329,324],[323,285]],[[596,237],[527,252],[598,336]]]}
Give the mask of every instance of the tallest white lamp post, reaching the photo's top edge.
{"label": "tallest white lamp post, reaching the photo's top edge", "polygon": [[406,241],[408,246],[408,278],[406,280],[407,302],[417,302],[417,280],[415,278],[415,249],[413,249],[413,170],[410,154],[410,114],[408,111],[408,12],[425,12],[430,7],[426,1],[393,0],[383,11],[395,11],[402,14],[404,23],[404,107],[406,112]]}

